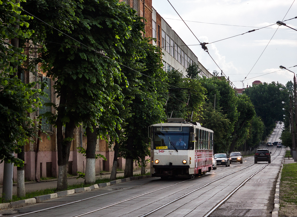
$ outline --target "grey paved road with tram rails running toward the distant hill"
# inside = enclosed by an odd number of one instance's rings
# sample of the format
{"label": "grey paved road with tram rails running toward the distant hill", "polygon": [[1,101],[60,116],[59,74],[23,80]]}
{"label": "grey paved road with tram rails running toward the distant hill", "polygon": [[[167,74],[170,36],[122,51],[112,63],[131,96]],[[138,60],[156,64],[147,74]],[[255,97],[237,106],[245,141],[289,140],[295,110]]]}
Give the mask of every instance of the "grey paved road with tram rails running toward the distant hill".
{"label": "grey paved road with tram rails running toward the distant hill", "polygon": [[[6,216],[271,216],[284,148],[271,150],[271,164],[217,167],[202,177],[148,178],[7,210]],[[59,206],[59,207],[57,207]],[[38,210],[42,210],[39,211]],[[31,213],[34,212],[34,213]],[[14,213],[14,214],[13,214]],[[28,213],[28,214],[26,214]]]}

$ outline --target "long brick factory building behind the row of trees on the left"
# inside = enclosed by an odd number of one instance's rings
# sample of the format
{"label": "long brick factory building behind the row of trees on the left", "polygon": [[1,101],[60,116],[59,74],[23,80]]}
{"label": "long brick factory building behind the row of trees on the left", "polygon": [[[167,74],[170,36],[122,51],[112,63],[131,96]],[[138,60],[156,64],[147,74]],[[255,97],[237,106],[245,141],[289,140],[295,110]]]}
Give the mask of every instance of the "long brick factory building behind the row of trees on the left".
{"label": "long brick factory building behind the row of trees on the left", "polygon": [[[130,7],[134,8],[138,12],[138,16],[145,17],[145,33],[144,37],[156,38],[156,41],[152,41],[154,45],[162,47],[164,70],[178,69],[185,75],[185,70],[188,64],[192,61],[200,64],[195,54],[185,45],[185,43],[178,37],[178,35],[171,29],[171,27],[165,22],[165,20],[154,10],[152,7],[152,0],[119,0],[124,1]],[[162,35],[163,33],[163,35]],[[166,46],[165,46],[166,45]],[[181,48],[182,47],[182,48]],[[34,52],[29,53],[29,50],[25,51],[29,56],[28,59],[32,61]],[[211,74],[200,64],[202,71],[201,75],[210,77]],[[31,72],[24,72],[21,75],[21,79],[24,83],[29,83],[37,80],[46,79],[46,74],[38,70],[38,75],[34,75]],[[55,90],[53,88],[54,81],[47,78],[48,89],[44,91],[48,94],[49,99],[44,98],[45,102],[53,102],[59,104],[59,98],[56,97]],[[31,113],[31,118],[37,117],[41,113],[45,112],[55,113],[53,107],[45,107],[37,113]],[[41,134],[41,140],[39,141],[39,148],[37,150],[37,141],[29,143],[25,146],[25,178],[26,180],[35,180],[35,174],[37,178],[40,177],[57,177],[58,175],[58,155],[57,155],[57,142],[56,142],[56,128],[47,124],[45,120],[42,120],[42,129],[44,129],[50,140],[47,139],[46,134]],[[76,174],[78,171],[85,172],[86,159],[83,154],[77,152],[78,147],[86,149],[86,137],[83,136],[84,130],[80,126],[75,129],[74,140],[72,141],[71,151],[68,162],[68,173]],[[104,155],[107,160],[96,160],[96,173],[102,170],[110,171],[113,164],[113,147],[108,147],[108,142],[98,139],[96,153]],[[35,162],[37,159],[37,163]],[[3,167],[4,164],[0,164],[0,183],[3,182]],[[118,159],[118,167],[124,170],[125,159]],[[134,167],[138,167],[135,163]],[[149,167],[149,166],[148,166]],[[14,167],[14,181],[16,181],[16,167]]]}

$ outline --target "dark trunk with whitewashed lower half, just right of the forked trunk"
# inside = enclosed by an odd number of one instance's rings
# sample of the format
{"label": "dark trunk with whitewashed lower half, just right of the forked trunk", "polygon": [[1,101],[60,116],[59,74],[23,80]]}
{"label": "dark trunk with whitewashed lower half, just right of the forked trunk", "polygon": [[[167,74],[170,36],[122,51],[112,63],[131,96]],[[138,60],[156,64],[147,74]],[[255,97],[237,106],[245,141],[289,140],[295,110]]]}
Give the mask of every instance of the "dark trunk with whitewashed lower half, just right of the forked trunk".
{"label": "dark trunk with whitewashed lower half, just right of the forked trunk", "polygon": [[85,183],[95,183],[95,161],[96,161],[96,145],[97,145],[97,128],[95,124],[91,124],[92,128],[86,128],[87,149],[86,149],[86,172]]}

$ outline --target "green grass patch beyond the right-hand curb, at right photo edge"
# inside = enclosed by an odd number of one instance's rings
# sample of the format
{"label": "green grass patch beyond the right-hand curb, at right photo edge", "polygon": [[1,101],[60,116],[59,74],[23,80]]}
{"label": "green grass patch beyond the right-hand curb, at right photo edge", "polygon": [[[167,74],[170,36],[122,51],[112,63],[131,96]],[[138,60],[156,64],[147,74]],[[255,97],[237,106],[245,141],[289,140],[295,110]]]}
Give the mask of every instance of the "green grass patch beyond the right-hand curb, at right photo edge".
{"label": "green grass patch beyond the right-hand curb, at right photo edge", "polygon": [[297,205],[297,164],[284,164],[280,183],[281,207],[285,204]]}

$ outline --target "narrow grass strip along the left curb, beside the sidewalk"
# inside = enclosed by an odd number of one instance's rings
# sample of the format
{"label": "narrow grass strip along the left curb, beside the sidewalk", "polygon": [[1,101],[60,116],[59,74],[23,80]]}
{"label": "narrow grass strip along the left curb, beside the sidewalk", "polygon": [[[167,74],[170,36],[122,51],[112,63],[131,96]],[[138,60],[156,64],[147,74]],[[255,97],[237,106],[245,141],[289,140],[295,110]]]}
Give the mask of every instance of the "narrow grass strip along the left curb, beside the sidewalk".
{"label": "narrow grass strip along the left curb, beside the sidewalk", "polygon": [[[147,172],[145,175],[150,175],[150,172]],[[140,174],[134,174],[133,176],[140,176]],[[116,179],[123,179],[124,176],[119,176],[116,177]],[[111,180],[109,178],[97,178],[96,182],[93,184],[74,184],[74,185],[69,185],[67,187],[67,190],[72,190],[72,189],[77,189],[77,188],[85,188],[85,187],[89,187],[91,185],[94,184],[100,184],[100,183],[106,183],[106,182],[110,182]],[[33,197],[37,197],[37,196],[41,196],[41,195],[45,195],[45,194],[53,194],[56,193],[58,191],[56,191],[56,189],[44,189],[44,190],[40,190],[40,191],[32,191],[32,192],[28,192],[26,193],[26,197],[17,197],[16,195],[12,195],[12,201],[10,202],[14,202],[14,201],[18,201],[18,200],[24,200],[24,199],[29,199],[29,198],[33,198]],[[0,203],[4,203],[3,198],[0,198]]]}

